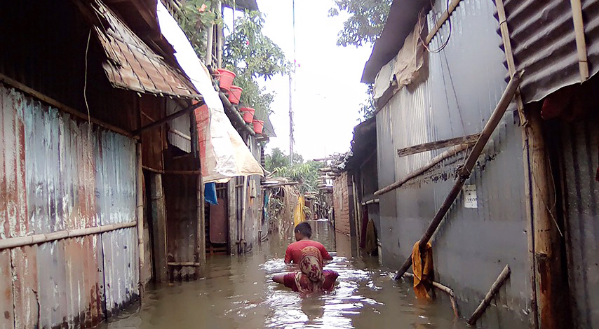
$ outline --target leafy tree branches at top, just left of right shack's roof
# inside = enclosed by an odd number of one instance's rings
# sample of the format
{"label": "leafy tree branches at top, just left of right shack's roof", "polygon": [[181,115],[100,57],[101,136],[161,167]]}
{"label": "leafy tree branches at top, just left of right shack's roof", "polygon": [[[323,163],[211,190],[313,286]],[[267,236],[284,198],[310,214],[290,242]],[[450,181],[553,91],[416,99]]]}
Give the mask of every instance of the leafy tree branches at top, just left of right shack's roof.
{"label": "leafy tree branches at top, just left of right shack's roof", "polygon": [[358,47],[375,43],[383,31],[391,2],[393,0],[335,0],[336,7],[329,10],[330,16],[339,15],[339,11],[349,13],[339,31],[337,45]]}

